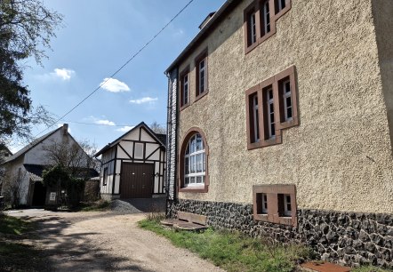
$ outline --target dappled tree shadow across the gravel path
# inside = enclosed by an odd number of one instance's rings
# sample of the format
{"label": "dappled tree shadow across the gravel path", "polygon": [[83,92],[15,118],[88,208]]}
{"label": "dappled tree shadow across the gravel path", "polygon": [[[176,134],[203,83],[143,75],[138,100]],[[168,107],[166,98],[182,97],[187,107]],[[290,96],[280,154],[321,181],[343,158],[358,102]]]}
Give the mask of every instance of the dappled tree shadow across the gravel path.
{"label": "dappled tree shadow across the gravel path", "polygon": [[[149,271],[140,267],[138,261],[132,258],[115,257],[110,254],[111,252],[105,252],[92,245],[88,236],[98,233],[62,234],[63,230],[71,225],[68,220],[57,216],[31,217],[29,220],[35,222],[36,230],[29,233],[28,241],[34,245],[41,244],[34,250],[41,251],[40,258],[46,259],[46,263],[44,268],[30,268],[26,271]],[[29,256],[25,255],[23,262],[27,263],[28,258]],[[124,265],[124,262],[131,262],[132,265]],[[0,271],[4,270],[0,268]]]}

